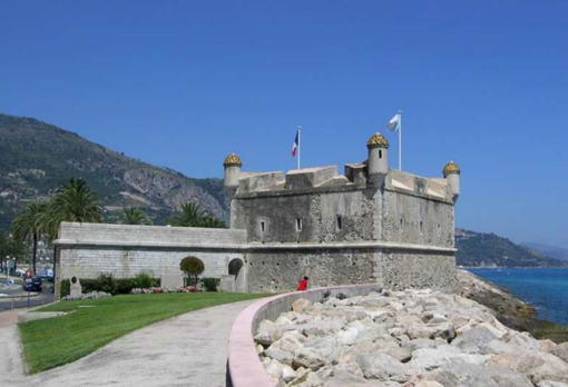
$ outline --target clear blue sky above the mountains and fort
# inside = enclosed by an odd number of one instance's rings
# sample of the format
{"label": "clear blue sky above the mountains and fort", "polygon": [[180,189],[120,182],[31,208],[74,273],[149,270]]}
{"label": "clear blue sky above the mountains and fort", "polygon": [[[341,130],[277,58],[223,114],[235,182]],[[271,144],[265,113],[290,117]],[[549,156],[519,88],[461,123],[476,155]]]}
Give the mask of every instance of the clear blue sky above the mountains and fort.
{"label": "clear blue sky above the mountains and fort", "polygon": [[[365,159],[462,168],[457,225],[568,247],[568,2],[0,2],[0,112],[190,177]],[[396,138],[391,140],[395,167]]]}

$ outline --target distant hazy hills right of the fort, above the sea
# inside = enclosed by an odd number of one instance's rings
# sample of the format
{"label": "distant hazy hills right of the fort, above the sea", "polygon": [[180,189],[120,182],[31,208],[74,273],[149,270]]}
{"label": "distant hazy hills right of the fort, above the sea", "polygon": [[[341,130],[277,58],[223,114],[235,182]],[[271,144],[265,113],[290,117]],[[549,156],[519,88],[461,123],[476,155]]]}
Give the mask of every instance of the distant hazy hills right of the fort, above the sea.
{"label": "distant hazy hills right of the fort, above the sea", "polygon": [[568,267],[533,249],[494,234],[456,229],[457,262],[466,267]]}

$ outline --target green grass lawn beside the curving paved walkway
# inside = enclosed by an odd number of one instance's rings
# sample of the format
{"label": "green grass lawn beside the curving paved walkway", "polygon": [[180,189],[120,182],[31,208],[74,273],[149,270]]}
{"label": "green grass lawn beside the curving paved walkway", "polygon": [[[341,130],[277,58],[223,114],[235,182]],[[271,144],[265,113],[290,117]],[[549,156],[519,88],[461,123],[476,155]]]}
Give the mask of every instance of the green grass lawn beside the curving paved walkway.
{"label": "green grass lawn beside the curving paved walkway", "polygon": [[[74,311],[19,324],[31,374],[72,363],[150,324],[210,306],[266,297],[235,292],[128,295],[62,301],[39,311]],[[271,295],[274,296],[274,295]],[[190,326],[187,327],[192,329]]]}

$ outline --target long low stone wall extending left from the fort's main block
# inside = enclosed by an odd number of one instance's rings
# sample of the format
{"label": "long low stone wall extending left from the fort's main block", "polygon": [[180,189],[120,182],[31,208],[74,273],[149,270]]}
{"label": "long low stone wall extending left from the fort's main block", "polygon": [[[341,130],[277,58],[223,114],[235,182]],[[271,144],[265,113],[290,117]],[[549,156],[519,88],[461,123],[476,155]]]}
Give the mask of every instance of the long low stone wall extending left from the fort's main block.
{"label": "long low stone wall extending left from the fort's main block", "polygon": [[231,262],[232,268],[244,265],[243,230],[63,222],[56,245],[57,294],[60,279],[100,274],[133,278],[145,272],[180,286],[179,262],[188,256],[204,262],[203,277],[228,277],[233,290],[246,290],[245,271],[229,272]]}

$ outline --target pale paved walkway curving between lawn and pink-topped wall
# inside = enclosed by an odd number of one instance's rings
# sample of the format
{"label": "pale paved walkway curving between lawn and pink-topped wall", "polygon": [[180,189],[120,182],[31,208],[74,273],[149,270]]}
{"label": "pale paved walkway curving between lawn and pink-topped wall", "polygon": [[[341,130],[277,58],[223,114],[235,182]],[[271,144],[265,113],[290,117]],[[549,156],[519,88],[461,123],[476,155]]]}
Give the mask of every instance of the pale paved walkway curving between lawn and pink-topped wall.
{"label": "pale paved walkway curving between lawn and pink-topped wall", "polygon": [[[23,376],[20,349],[10,341],[18,337],[17,327],[0,325],[0,386],[225,387],[231,326],[254,301],[206,308],[154,324],[76,363],[32,377]],[[10,361],[3,366],[7,353]]]}

